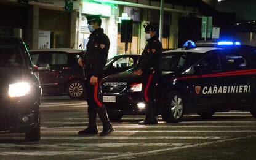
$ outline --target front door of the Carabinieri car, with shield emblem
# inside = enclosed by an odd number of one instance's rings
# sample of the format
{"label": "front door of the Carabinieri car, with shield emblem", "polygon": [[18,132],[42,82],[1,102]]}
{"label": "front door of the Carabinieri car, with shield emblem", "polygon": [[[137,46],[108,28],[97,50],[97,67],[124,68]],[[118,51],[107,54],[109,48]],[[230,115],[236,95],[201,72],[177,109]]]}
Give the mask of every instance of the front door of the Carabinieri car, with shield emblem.
{"label": "front door of the Carabinieri car, with shield emblem", "polygon": [[[200,66],[201,69],[196,69]],[[194,76],[188,80],[191,86],[191,97],[197,112],[210,112],[224,105],[226,94],[221,94],[220,87],[225,82],[219,77],[221,72],[220,58],[217,53],[210,53],[193,66]]]}

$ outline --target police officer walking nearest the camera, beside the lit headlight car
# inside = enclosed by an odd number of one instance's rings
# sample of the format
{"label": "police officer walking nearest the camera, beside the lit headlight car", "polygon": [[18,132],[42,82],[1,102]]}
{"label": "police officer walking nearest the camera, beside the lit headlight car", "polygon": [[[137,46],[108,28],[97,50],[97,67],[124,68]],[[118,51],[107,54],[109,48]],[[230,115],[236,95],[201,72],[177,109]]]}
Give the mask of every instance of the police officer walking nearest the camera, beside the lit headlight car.
{"label": "police officer walking nearest the camera, beside the lit headlight car", "polygon": [[108,50],[110,48],[110,40],[104,34],[100,25],[102,20],[100,15],[86,15],[88,21],[88,28],[91,32],[89,42],[87,43],[86,53],[79,58],[79,65],[84,65],[84,73],[86,76],[86,98],[88,104],[88,127],[79,131],[80,135],[98,134],[96,123],[96,115],[100,117],[103,123],[103,131],[101,136],[110,134],[114,131],[113,126],[108,119],[105,106],[98,97],[98,86],[103,78],[103,67],[108,58]]}

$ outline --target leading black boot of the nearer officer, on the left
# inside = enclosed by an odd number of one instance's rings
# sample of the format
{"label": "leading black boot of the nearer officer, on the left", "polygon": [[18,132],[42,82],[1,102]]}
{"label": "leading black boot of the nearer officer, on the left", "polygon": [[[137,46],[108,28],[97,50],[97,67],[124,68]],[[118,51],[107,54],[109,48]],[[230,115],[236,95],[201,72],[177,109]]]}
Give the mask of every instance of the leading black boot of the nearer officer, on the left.
{"label": "leading black boot of the nearer officer, on the left", "polygon": [[98,127],[96,123],[96,115],[97,112],[95,109],[88,108],[88,119],[89,124],[88,127],[82,131],[79,131],[79,135],[95,135],[98,134]]}

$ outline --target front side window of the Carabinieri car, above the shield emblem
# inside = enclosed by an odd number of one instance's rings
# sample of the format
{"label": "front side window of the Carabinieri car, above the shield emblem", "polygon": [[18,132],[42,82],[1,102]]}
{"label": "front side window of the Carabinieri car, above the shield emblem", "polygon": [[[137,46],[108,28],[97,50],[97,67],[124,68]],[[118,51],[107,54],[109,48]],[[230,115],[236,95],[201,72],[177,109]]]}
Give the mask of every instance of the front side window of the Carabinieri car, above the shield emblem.
{"label": "front side window of the Carabinieri car, above the shield emblem", "polygon": [[199,61],[204,72],[217,72],[220,70],[220,59],[217,53],[212,53]]}

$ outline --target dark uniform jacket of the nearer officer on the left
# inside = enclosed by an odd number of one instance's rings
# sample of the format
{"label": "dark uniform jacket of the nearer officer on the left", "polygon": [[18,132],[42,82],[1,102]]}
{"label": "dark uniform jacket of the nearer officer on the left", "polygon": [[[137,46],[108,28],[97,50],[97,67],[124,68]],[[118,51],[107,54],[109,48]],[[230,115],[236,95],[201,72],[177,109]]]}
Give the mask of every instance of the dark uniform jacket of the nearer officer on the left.
{"label": "dark uniform jacket of the nearer officer on the left", "polygon": [[110,40],[108,36],[104,34],[102,28],[96,29],[90,34],[86,48],[86,53],[82,57],[86,76],[103,78],[103,68],[108,59]]}

